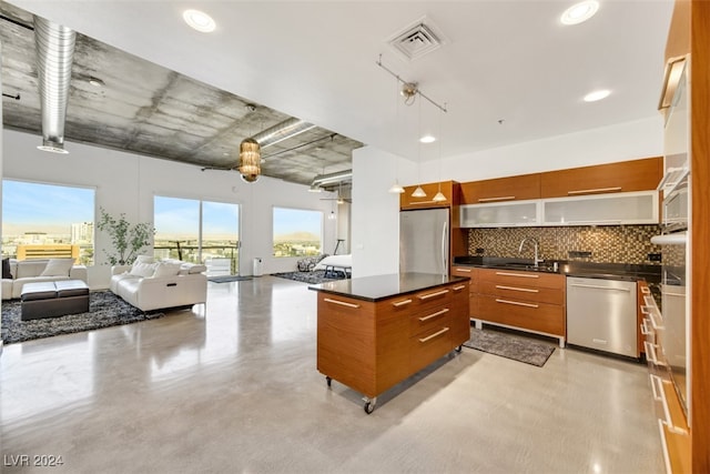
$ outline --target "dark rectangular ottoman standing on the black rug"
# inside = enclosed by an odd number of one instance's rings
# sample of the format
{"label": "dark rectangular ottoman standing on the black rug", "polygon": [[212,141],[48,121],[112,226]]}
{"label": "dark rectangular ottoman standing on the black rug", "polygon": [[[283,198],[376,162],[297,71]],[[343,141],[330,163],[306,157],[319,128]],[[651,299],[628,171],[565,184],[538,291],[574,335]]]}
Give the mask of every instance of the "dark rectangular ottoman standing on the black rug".
{"label": "dark rectangular ottoman standing on the black rug", "polygon": [[22,321],[89,312],[89,286],[81,280],[27,283],[22,286]]}

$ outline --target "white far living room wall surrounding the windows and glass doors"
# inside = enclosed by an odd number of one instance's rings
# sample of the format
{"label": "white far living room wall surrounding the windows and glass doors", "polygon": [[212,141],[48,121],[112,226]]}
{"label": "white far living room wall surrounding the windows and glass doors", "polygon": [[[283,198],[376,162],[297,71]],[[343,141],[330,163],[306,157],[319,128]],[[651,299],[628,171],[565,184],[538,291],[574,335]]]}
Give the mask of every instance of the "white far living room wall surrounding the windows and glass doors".
{"label": "white far living room wall surrounding the windows and glass doors", "polygon": [[[324,251],[332,252],[335,245],[336,222],[326,219],[332,201],[321,201],[326,194],[308,193],[305,185],[265,177],[250,184],[236,172],[203,172],[194,165],[81,143],[67,142],[70,154],[58,155],[37,150],[38,135],[11,130],[3,130],[3,178],[94,188],[97,215],[102,206],[113,215],[125,213],[131,222],[152,222],[156,194],[241,204],[241,274],[252,273],[255,256],[263,259],[265,274],[296,268],[295,258],[272,256],[273,206],[322,211]],[[105,248],[108,236],[97,232],[97,265],[89,269],[91,288],[108,286]]]}

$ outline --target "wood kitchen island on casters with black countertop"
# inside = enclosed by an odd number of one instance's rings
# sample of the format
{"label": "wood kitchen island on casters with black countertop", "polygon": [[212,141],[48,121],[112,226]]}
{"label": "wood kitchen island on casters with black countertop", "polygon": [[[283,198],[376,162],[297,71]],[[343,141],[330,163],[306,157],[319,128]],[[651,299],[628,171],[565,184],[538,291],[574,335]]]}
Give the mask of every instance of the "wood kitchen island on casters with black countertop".
{"label": "wood kitchen island on casters with black countertop", "polygon": [[470,337],[468,279],[428,273],[354,278],[308,286],[318,292],[317,369],[377,395]]}

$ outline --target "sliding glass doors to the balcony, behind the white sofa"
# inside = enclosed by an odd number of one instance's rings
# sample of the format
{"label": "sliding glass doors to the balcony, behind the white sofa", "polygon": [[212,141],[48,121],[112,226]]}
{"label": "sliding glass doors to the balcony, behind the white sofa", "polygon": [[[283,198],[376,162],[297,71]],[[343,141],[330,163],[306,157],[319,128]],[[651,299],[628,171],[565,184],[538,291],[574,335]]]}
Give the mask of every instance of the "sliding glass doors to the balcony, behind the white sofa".
{"label": "sliding glass doors to the balcony, behind the white sofa", "polygon": [[207,274],[239,272],[239,204],[154,199],[156,258],[204,263]]}

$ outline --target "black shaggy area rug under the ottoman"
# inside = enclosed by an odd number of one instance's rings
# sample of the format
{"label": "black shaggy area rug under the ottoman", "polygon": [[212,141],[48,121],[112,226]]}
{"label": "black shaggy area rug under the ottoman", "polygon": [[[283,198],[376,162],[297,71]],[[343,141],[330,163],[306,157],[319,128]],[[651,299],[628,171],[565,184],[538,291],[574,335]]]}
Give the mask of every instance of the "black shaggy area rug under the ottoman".
{"label": "black shaggy area rug under the ottoman", "polygon": [[41,320],[20,320],[20,301],[2,302],[2,341],[6,344],[71,334],[139,321],[155,320],[163,313],[143,313],[110,291],[89,294],[89,313],[68,314]]}

